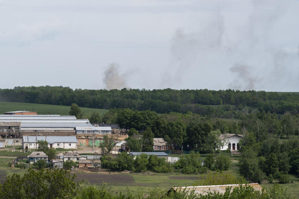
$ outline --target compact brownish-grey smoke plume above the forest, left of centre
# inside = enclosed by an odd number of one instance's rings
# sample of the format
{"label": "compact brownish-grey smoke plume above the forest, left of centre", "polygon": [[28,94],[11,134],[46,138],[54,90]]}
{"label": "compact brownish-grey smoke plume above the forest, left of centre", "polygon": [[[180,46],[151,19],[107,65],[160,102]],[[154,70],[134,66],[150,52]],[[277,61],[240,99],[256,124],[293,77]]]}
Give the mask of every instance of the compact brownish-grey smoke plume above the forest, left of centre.
{"label": "compact brownish-grey smoke plume above the forest, left of centre", "polygon": [[119,74],[119,64],[109,64],[104,73],[103,81],[107,90],[127,88],[126,74]]}

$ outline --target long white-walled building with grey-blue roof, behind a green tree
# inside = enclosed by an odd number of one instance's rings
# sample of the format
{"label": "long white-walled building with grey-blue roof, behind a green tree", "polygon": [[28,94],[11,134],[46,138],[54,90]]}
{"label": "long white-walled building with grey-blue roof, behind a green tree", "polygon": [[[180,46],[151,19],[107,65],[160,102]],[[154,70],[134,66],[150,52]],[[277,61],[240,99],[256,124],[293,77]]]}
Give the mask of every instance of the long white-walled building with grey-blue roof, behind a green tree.
{"label": "long white-walled building with grey-blue roof, behind a green tree", "polygon": [[[45,140],[48,142],[49,148],[63,148],[63,149],[76,149],[77,139],[76,136],[23,136],[22,147],[28,146],[35,149],[38,140]],[[26,146],[25,146],[26,145]]]}

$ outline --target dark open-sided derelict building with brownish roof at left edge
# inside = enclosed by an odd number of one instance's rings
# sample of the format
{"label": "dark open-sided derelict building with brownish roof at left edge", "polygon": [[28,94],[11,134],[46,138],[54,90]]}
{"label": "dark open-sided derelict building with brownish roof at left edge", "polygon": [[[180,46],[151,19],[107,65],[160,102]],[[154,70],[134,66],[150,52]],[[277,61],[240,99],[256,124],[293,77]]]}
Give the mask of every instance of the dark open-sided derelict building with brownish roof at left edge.
{"label": "dark open-sided derelict building with brownish roof at left edge", "polygon": [[20,137],[21,122],[2,121],[0,118],[0,136]]}

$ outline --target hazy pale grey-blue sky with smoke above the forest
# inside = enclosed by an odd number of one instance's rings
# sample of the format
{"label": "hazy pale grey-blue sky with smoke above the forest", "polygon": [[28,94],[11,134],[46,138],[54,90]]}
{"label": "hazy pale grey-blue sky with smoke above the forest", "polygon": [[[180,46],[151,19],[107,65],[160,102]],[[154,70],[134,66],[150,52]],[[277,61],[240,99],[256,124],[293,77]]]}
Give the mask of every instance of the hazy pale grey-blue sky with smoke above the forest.
{"label": "hazy pale grey-blue sky with smoke above the forest", "polygon": [[298,8],[298,0],[0,0],[0,87],[299,91]]}

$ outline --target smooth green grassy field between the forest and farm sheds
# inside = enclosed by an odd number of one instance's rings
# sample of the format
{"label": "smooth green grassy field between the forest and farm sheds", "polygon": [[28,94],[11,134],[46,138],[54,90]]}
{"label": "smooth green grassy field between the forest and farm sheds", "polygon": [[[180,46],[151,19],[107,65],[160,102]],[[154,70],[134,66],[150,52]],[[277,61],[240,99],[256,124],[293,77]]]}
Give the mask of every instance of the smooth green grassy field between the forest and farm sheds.
{"label": "smooth green grassy field between the forest and farm sheds", "polygon": [[[37,114],[51,114],[51,115],[69,115],[70,106],[59,106],[59,105],[50,105],[50,104],[31,104],[31,103],[19,103],[19,102],[0,102],[0,114],[4,114],[4,112],[9,111],[19,111],[26,110],[32,111],[32,108]],[[106,109],[91,109],[91,108],[83,108],[83,116],[88,116],[89,113],[98,112],[100,115],[106,113],[108,110]]]}

